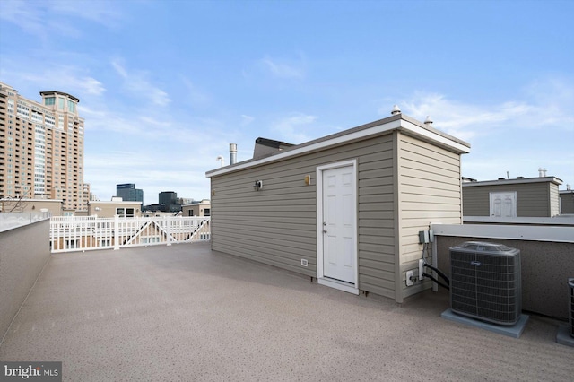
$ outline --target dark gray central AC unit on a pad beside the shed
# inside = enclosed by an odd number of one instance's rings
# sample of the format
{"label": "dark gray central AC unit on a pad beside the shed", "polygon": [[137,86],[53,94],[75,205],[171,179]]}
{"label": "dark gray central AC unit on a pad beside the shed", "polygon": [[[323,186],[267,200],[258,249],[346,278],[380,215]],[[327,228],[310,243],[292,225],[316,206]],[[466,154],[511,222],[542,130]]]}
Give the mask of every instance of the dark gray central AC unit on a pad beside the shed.
{"label": "dark gray central AC unit on a pad beside the shed", "polygon": [[479,241],[451,247],[450,308],[493,324],[515,325],[522,312],[520,251]]}

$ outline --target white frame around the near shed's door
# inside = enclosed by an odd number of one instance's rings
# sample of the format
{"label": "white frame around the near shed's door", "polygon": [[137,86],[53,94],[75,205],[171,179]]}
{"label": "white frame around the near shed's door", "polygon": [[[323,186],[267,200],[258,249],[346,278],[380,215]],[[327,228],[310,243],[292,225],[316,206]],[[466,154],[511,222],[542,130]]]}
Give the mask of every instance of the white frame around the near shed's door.
{"label": "white frame around the near shed's door", "polygon": [[[355,271],[355,282],[340,282],[334,279],[325,277],[323,269],[323,171],[327,169],[338,169],[342,167],[352,166],[352,173],[355,181],[355,190],[353,193],[354,197],[354,208],[353,208],[353,221],[355,222],[354,234],[353,234],[353,247],[355,251],[355,256],[352,259],[353,268]],[[359,294],[359,247],[358,247],[358,178],[357,178],[357,160],[350,161],[338,161],[335,163],[329,163],[322,166],[317,166],[317,282],[321,285],[326,285],[331,288],[338,289],[340,291],[347,291],[352,294]]]}

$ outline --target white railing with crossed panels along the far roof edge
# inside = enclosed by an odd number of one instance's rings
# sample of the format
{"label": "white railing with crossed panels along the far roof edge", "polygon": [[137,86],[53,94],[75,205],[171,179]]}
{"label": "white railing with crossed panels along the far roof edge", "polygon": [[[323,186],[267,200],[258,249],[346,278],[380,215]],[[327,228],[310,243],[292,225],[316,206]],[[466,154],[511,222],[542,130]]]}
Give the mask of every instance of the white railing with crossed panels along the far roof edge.
{"label": "white railing with crossed panels along the far roof edge", "polygon": [[209,217],[55,216],[50,219],[52,253],[137,246],[170,246],[174,243],[210,239]]}

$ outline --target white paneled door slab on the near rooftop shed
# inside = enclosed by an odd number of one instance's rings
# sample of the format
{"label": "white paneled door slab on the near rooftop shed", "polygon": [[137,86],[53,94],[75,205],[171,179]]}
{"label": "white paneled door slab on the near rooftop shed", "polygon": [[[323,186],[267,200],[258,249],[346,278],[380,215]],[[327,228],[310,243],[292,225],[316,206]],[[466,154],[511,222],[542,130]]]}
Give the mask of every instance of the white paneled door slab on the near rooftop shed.
{"label": "white paneled door slab on the near rooftop shed", "polygon": [[323,170],[323,276],[356,282],[354,166]]}

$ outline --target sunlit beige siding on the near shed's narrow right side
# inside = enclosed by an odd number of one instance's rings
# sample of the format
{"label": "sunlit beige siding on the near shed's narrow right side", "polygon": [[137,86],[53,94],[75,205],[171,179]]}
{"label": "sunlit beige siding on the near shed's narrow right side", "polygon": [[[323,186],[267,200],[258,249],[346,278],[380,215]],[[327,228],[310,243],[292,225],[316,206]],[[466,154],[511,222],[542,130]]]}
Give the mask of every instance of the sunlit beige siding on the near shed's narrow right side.
{"label": "sunlit beige siding on the near shed's narrow right side", "polygon": [[[403,297],[431,286],[430,282],[406,287],[406,271],[418,270],[422,256],[419,231],[435,222],[462,223],[460,155],[398,135],[400,203],[400,274]],[[417,271],[418,273],[418,271]]]}

